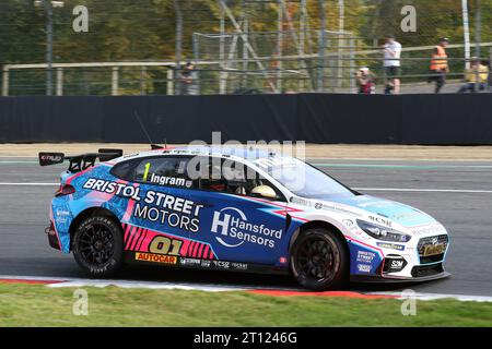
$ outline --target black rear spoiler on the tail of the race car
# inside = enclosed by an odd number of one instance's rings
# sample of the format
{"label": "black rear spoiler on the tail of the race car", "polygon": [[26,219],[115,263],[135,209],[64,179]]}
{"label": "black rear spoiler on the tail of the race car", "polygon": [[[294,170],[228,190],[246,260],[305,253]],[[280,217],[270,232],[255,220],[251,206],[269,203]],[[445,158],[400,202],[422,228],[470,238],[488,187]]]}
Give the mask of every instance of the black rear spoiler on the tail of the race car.
{"label": "black rear spoiler on the tail of the race car", "polygon": [[95,165],[95,161],[109,161],[122,156],[122,149],[98,149],[97,153],[66,156],[63,153],[39,153],[39,165],[51,166],[70,161],[69,171],[80,172]]}

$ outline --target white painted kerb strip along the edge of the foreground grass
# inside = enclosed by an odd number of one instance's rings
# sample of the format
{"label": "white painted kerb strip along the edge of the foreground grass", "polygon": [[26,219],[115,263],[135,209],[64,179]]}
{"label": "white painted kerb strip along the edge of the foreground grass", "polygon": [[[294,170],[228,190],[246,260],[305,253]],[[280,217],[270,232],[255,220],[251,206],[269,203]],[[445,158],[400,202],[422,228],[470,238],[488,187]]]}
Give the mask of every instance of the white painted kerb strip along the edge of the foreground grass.
{"label": "white painted kerb strip along the edge of the foreground grass", "polygon": [[[137,280],[95,280],[95,279],[79,279],[71,277],[40,277],[40,276],[16,276],[16,275],[0,275],[0,280],[26,280],[26,281],[54,281],[54,284],[46,285],[51,288],[65,287],[98,287],[104,288],[108,286],[116,286],[120,288],[144,288],[144,289],[179,289],[179,290],[200,290],[207,292],[223,292],[223,291],[247,291],[247,290],[284,290],[284,291],[300,291],[304,289],[285,289],[279,287],[257,287],[244,285],[214,285],[214,284],[190,284],[190,282],[168,282],[168,281],[137,281]],[[397,299],[403,299],[401,292],[360,292],[362,294],[373,296],[391,296]],[[487,296],[468,296],[468,294],[446,294],[446,293],[414,293],[415,298],[421,301],[433,301],[438,299],[456,299],[464,302],[492,302],[492,297]]]}

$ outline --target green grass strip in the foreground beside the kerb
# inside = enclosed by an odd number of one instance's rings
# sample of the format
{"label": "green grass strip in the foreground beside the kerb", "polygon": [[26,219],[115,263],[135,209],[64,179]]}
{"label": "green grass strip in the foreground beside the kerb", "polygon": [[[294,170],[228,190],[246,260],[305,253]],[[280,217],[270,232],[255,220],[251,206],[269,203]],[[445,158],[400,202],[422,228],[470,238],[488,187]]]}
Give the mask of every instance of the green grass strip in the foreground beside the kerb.
{"label": "green grass strip in the foreground beside the kerb", "polygon": [[269,297],[85,288],[89,315],[74,316],[73,289],[0,284],[2,326],[492,326],[492,303],[419,301],[402,316],[398,300]]}

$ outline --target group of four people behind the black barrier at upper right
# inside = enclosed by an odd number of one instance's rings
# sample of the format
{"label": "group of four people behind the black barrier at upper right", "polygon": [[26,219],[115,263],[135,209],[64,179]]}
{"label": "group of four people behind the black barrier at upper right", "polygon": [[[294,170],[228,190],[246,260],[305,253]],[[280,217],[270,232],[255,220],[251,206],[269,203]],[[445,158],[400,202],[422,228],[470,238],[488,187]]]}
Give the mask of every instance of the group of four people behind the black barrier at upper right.
{"label": "group of four people behind the black barrier at upper right", "polygon": [[[449,44],[448,38],[441,38],[434,47],[429,69],[429,83],[434,83],[434,92],[441,93],[446,84],[446,77],[449,74],[449,63],[446,48]],[[400,68],[401,68],[401,44],[394,35],[387,35],[385,44],[382,46],[383,68],[384,68],[384,93],[386,95],[400,93]],[[459,88],[458,93],[476,93],[487,91],[492,87],[491,69],[489,61],[481,61],[479,58],[471,58],[470,68],[465,71],[466,83]],[[370,68],[363,67],[356,72],[356,83],[359,93],[372,95],[376,93],[376,75]]]}

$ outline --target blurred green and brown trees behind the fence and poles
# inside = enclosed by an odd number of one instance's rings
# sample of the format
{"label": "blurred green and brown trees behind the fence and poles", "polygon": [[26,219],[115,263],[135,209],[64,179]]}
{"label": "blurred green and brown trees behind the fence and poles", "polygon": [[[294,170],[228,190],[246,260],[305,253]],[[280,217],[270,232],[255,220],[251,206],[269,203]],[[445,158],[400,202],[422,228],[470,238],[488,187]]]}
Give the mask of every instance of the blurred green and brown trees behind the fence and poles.
{"label": "blurred green and brown trees behind the fence and poles", "polygon": [[[241,0],[229,1],[236,15],[241,13]],[[339,0],[325,1],[327,29],[339,27]],[[83,4],[90,11],[89,33],[72,31],[72,9]],[[417,33],[402,33],[400,10],[414,5],[418,11]],[[469,1],[470,35],[475,39],[476,1]],[[291,3],[296,7],[296,2]],[[179,0],[184,16],[183,56],[192,57],[192,33],[216,33],[219,31],[219,7],[216,0]],[[460,0],[344,0],[344,29],[360,37],[364,47],[382,44],[389,33],[397,36],[403,47],[434,45],[438,37],[449,37],[454,44],[462,44],[462,17]],[[250,28],[256,32],[277,29],[276,1],[249,4]],[[294,8],[295,11],[295,8]],[[307,0],[308,26],[320,27],[319,0]],[[482,41],[492,40],[492,0],[481,1]],[[54,9],[54,60],[55,62],[104,62],[104,61],[159,61],[175,59],[176,15],[173,0],[65,0],[65,7]],[[232,31],[231,23],[226,23]],[[32,0],[8,0],[0,2],[0,65],[9,63],[45,62],[46,19],[42,8]],[[462,52],[453,52],[462,57]],[[487,50],[485,56],[489,55]],[[422,56],[422,53],[420,53]],[[427,56],[427,55],[425,55]],[[365,62],[361,62],[365,63]],[[376,62],[367,62],[376,65]],[[411,65],[411,64],[410,64]],[[413,67],[414,65],[414,67]],[[412,70],[422,71],[425,64],[413,64]],[[421,67],[422,65],[422,67]],[[418,69],[419,68],[419,69]],[[19,73],[20,74],[20,73]],[[121,91],[139,91],[140,71],[122,72]],[[147,93],[164,93],[165,70],[145,72],[152,84]],[[23,73],[15,76],[15,93],[44,93],[44,72]],[[97,77],[97,79],[96,79]],[[110,72],[86,70],[66,73],[67,93],[101,94],[109,88]],[[94,81],[102,83],[93,83]],[[103,83],[105,82],[105,83]],[[17,88],[17,91],[15,91]]]}

